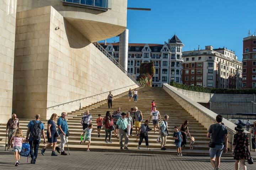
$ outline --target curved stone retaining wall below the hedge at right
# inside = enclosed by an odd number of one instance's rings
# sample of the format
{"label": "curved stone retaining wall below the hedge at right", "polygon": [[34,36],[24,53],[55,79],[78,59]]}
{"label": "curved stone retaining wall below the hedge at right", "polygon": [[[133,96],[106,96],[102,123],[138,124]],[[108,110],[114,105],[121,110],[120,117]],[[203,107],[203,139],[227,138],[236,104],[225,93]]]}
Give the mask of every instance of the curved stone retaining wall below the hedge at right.
{"label": "curved stone retaining wall below the hedge at right", "polygon": [[[253,95],[243,94],[209,94],[172,87],[181,94],[198,103],[209,103],[211,110],[217,114],[252,113]],[[256,96],[255,96],[256,98]],[[255,99],[256,100],[256,99]],[[256,106],[254,106],[256,112]]]}

